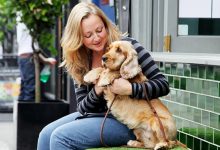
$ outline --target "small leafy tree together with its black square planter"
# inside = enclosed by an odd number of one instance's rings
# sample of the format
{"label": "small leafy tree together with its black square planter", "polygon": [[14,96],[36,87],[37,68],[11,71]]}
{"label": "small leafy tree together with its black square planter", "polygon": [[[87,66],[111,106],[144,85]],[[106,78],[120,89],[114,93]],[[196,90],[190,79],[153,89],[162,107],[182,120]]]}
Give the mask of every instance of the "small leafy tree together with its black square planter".
{"label": "small leafy tree together with its black square planter", "polygon": [[[0,0],[7,7],[11,19],[16,12],[21,12],[23,22],[32,36],[35,64],[35,102],[18,102],[17,104],[17,150],[36,149],[40,130],[48,123],[69,113],[69,105],[57,102],[42,102],[40,84],[39,49],[34,47],[37,41],[41,51],[56,55],[54,28],[57,18],[62,16],[62,6],[68,0]],[[9,11],[9,8],[13,11]],[[1,34],[0,34],[1,35]]]}

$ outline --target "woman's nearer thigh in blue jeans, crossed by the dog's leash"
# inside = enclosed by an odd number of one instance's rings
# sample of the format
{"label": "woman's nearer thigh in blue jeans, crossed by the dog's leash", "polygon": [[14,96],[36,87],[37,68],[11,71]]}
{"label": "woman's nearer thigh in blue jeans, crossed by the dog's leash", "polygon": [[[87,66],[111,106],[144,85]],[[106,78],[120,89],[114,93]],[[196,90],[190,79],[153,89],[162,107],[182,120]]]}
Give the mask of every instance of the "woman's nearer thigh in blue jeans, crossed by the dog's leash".
{"label": "woman's nearer thigh in blue jeans, crossed by the dog's leash", "polygon": [[[84,118],[58,127],[51,136],[50,148],[86,149],[103,146],[100,142],[102,117]],[[103,140],[109,146],[126,145],[135,139],[131,130],[113,118],[104,124]]]}

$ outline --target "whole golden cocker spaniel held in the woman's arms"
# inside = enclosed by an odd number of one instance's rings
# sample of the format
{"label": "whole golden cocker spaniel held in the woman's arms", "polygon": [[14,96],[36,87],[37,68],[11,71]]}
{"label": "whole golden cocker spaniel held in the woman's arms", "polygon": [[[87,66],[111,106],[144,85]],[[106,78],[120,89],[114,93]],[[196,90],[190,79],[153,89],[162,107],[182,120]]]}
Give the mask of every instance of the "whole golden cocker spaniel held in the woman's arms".
{"label": "whole golden cocker spaniel held in the woman's arms", "polygon": [[159,99],[153,99],[150,102],[163,124],[168,143],[163,137],[157,117],[145,99],[131,99],[129,96],[115,95],[108,88],[114,79],[120,77],[131,83],[147,81],[138,65],[137,58],[137,52],[130,42],[115,41],[103,55],[103,67],[88,72],[84,76],[84,81],[87,83],[97,81],[98,86],[106,86],[104,95],[108,107],[115,99],[111,113],[130,129],[134,129],[136,136],[136,140],[128,141],[128,146],[154,149],[171,148],[176,144],[177,129],[171,113]]}

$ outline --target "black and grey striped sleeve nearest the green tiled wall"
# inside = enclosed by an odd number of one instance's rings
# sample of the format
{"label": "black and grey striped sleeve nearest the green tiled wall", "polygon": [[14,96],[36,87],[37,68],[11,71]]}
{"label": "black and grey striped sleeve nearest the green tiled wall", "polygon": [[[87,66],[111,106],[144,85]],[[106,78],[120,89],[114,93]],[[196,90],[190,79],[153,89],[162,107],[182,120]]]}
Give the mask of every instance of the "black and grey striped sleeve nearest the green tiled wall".
{"label": "black and grey striped sleeve nearest the green tiled wall", "polygon": [[[139,42],[132,38],[126,38],[124,40],[130,41],[138,53],[138,63],[141,65],[142,72],[148,78],[148,81],[145,82],[144,85],[146,87],[149,100],[167,95],[170,91],[169,83],[167,82],[165,76],[160,72],[149,52],[141,46]],[[138,99],[144,98],[142,84],[132,83],[131,97]]]}

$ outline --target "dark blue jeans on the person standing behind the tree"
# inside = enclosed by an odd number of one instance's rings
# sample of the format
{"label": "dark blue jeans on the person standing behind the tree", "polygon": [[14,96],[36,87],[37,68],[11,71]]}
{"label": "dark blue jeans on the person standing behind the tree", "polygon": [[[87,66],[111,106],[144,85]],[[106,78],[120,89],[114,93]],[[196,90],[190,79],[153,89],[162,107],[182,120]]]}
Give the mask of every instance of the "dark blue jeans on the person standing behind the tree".
{"label": "dark blue jeans on the person standing behind the tree", "polygon": [[18,58],[21,75],[19,101],[34,101],[35,99],[35,67],[31,58]]}

